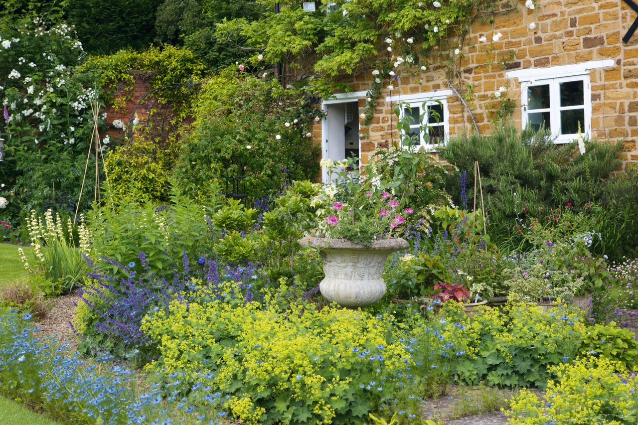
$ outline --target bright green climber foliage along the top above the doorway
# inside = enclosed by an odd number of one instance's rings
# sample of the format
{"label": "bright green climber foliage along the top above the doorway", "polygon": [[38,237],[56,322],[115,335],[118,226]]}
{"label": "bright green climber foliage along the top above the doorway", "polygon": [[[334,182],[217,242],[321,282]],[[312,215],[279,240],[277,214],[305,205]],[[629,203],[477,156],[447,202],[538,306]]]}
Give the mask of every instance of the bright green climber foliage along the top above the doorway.
{"label": "bright green climber foliage along the top above the doorway", "polygon": [[436,8],[432,3],[410,0],[322,1],[315,13],[307,13],[299,2],[284,1],[279,2],[281,11],[274,13],[274,2],[264,3],[271,7],[263,19],[229,20],[219,24],[218,34],[240,43],[245,40],[249,47],[263,51],[267,63],[288,64],[308,78],[313,93],[324,96],[334,93],[333,83],[342,74],[377,66],[387,68],[387,76],[389,59],[380,54],[387,47],[385,38],[392,38],[394,55],[421,66],[427,64],[431,52],[443,52],[452,45],[456,48],[460,42],[450,36],[460,37],[475,10],[493,4],[451,0]]}

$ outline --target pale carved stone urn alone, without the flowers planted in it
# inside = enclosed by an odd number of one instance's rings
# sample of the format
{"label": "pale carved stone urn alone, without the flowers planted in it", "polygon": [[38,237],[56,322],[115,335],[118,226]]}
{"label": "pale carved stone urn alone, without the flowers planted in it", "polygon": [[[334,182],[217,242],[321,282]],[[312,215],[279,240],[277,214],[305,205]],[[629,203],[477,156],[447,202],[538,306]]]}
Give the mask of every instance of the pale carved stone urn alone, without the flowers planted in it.
{"label": "pale carved stone urn alone, without the flowers planted in it", "polygon": [[299,243],[319,250],[325,274],[319,290],[326,299],[343,307],[368,306],[382,299],[385,260],[393,251],[409,247],[400,237],[378,239],[372,246],[314,236],[306,236]]}

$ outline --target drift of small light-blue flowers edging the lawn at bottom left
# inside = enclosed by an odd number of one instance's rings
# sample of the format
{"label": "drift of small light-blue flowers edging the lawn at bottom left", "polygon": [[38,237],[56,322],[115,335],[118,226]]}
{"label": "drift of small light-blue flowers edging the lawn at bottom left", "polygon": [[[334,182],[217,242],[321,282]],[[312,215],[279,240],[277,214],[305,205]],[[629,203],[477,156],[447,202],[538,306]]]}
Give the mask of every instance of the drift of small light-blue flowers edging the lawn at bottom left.
{"label": "drift of small light-blue flowers edging the lawn at bottom left", "polygon": [[85,424],[219,424],[227,415],[218,409],[221,394],[211,387],[195,385],[187,397],[180,396],[177,374],[166,387],[155,384],[137,392],[138,373],[107,362],[111,356],[85,362],[64,346],[34,338],[24,322],[29,316],[0,310],[0,392],[5,396]]}

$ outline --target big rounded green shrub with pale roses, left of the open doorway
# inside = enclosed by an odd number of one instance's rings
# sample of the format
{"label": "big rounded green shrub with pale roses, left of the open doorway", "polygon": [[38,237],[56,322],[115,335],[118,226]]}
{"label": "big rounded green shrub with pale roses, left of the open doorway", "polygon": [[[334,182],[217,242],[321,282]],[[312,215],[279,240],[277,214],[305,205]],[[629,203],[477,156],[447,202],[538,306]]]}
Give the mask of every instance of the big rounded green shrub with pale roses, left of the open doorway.
{"label": "big rounded green shrub with pale roses, left of the open doorway", "polygon": [[277,82],[231,70],[212,77],[202,88],[195,122],[184,136],[175,167],[179,186],[197,197],[205,184],[221,181],[232,193],[232,181],[221,176],[244,175],[238,189],[253,200],[279,193],[285,182],[314,179],[320,148],[307,134],[317,114]]}

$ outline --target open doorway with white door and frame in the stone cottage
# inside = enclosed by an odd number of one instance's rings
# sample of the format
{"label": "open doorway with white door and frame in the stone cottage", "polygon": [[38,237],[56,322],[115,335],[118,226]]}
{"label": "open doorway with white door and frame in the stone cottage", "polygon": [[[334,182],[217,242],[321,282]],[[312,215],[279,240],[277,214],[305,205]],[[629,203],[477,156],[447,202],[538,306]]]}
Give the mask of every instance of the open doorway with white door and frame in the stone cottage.
{"label": "open doorway with white door and frame in the stone cottage", "polygon": [[[352,98],[330,101],[324,103],[323,110],[326,117],[322,131],[322,158],[332,161],[359,158],[359,101]],[[358,161],[356,167],[359,167]],[[327,181],[328,170],[324,168],[322,173],[323,181]]]}

